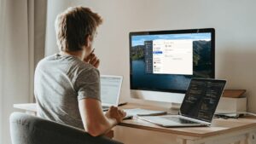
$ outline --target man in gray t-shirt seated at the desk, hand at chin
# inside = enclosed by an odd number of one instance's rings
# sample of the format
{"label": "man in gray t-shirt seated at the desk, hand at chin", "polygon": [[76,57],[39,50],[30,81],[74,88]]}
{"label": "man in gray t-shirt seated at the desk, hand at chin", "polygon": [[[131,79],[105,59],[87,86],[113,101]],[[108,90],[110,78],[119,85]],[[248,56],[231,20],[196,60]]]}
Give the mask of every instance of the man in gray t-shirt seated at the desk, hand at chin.
{"label": "man in gray t-shirt seated at the desk, hand at chin", "polygon": [[103,135],[125,117],[110,107],[104,114],[100,99],[100,60],[92,50],[102,18],[88,8],[70,8],[55,20],[60,53],[38,63],[34,92],[38,116]]}

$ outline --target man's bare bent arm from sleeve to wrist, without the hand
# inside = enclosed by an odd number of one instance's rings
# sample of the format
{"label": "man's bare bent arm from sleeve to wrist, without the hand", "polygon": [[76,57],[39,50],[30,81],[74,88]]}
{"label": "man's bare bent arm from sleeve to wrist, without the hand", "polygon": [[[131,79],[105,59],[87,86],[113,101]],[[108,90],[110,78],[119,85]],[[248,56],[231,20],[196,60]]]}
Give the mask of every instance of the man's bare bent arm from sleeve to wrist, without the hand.
{"label": "man's bare bent arm from sleeve to wrist, without the hand", "polygon": [[118,122],[102,112],[100,101],[86,98],[79,101],[79,111],[84,124],[84,130],[90,135],[102,135],[111,130]]}

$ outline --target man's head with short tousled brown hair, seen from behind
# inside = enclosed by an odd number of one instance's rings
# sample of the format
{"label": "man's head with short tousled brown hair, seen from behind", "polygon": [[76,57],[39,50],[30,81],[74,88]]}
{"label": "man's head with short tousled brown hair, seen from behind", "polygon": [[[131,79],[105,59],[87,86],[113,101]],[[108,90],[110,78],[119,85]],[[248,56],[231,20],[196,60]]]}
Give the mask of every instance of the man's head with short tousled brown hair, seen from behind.
{"label": "man's head with short tousled brown hair, seen from behind", "polygon": [[84,7],[75,7],[58,14],[55,20],[57,44],[61,51],[73,52],[90,46],[102,17]]}

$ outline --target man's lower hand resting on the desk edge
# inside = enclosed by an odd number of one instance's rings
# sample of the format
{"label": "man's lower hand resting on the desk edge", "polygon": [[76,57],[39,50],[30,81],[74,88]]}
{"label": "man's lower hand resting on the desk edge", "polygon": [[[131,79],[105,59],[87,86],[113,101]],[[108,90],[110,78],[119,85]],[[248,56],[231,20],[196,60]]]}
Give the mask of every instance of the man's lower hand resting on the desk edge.
{"label": "man's lower hand resting on the desk edge", "polygon": [[106,112],[106,116],[108,118],[115,118],[117,123],[119,124],[123,121],[123,118],[126,116],[126,112],[123,110],[119,110],[118,107],[109,107],[108,112]]}

